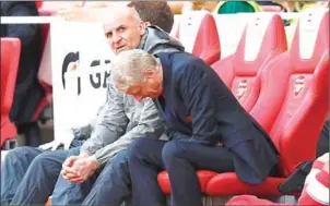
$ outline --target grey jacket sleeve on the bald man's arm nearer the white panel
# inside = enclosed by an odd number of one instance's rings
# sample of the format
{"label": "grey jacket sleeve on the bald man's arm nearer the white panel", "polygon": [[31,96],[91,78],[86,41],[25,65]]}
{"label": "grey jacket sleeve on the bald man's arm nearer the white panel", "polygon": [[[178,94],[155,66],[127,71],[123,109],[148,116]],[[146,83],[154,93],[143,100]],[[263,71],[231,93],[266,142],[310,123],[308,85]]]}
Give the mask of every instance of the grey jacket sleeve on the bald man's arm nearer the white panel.
{"label": "grey jacket sleeve on the bald man's arm nearer the white panel", "polygon": [[81,147],[81,152],[90,155],[122,136],[129,121],[125,113],[123,95],[115,89],[113,83],[108,86],[106,105],[96,118],[91,137]]}

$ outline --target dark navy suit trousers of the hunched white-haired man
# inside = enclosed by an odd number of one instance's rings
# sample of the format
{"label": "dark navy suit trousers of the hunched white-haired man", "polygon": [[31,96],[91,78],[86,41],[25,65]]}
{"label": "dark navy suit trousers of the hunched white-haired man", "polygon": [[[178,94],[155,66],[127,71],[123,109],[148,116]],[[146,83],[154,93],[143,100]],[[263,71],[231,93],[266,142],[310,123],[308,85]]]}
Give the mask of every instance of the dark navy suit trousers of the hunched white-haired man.
{"label": "dark navy suit trousers of the hunched white-haired man", "polygon": [[[188,140],[189,141],[189,140]],[[166,205],[157,174],[169,174],[172,205],[202,206],[196,170],[234,171],[232,154],[225,147],[209,147],[186,140],[164,142],[140,138],[129,148],[129,169],[134,206]]]}

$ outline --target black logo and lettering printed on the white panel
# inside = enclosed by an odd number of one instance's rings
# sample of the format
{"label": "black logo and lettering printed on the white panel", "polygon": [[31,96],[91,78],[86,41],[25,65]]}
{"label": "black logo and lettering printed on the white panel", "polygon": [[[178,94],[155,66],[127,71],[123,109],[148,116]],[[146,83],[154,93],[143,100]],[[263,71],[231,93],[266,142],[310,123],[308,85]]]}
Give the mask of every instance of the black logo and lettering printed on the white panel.
{"label": "black logo and lettering printed on the white panel", "polygon": [[[62,63],[62,86],[66,89],[66,73],[69,70],[69,65],[71,63],[78,62],[79,59],[79,51],[76,52],[69,52]],[[102,61],[101,60],[93,60],[90,64],[91,68],[95,68],[101,65]],[[105,64],[110,63],[110,60],[104,60]],[[73,70],[75,70],[76,68],[73,68]],[[90,74],[90,84],[94,87],[94,88],[99,88],[101,86],[103,88],[106,88],[107,86],[107,78],[110,76],[110,72],[109,71],[105,71],[104,72],[104,78],[102,78],[101,72],[97,72],[95,74]],[[81,94],[81,77],[78,77],[76,81],[76,94],[80,95]]]}

